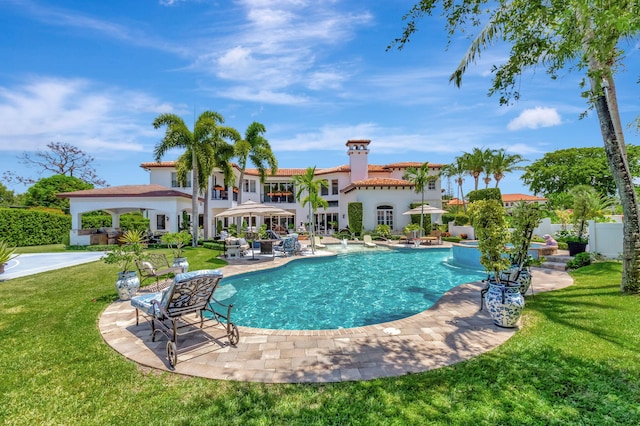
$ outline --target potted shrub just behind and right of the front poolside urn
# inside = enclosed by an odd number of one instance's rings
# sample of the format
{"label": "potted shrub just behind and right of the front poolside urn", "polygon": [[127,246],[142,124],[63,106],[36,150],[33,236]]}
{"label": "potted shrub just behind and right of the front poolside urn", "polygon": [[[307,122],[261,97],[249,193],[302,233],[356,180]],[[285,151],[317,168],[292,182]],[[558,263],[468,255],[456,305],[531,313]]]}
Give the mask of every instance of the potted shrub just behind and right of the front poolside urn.
{"label": "potted shrub just behind and right of the front poolside urn", "polygon": [[533,230],[540,224],[542,213],[537,204],[517,203],[511,211],[511,253],[509,276],[514,277],[520,284],[520,293],[526,294],[531,286],[532,258],[529,255],[529,247],[533,239]]}

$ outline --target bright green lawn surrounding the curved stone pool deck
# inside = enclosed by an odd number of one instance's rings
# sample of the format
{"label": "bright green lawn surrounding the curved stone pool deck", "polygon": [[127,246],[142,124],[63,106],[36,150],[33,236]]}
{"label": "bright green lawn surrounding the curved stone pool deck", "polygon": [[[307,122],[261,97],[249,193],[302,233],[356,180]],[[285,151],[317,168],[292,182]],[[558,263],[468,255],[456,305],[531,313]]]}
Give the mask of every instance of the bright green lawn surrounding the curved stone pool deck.
{"label": "bright green lawn surrounding the curved stone pool deck", "polygon": [[[190,269],[223,261],[188,249]],[[139,368],[96,322],[116,268],[94,262],[0,283],[0,422],[5,424],[640,424],[640,299],[620,265],[527,300],[501,347],[447,368],[366,382],[259,384]],[[424,354],[429,356],[429,354]]]}

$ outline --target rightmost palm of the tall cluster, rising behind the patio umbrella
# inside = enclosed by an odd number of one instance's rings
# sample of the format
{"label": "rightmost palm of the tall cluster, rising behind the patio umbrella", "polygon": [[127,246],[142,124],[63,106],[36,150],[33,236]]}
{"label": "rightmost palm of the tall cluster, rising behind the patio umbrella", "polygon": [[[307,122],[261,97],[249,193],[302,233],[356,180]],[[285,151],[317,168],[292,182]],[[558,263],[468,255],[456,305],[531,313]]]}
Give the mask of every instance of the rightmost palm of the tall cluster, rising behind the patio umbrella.
{"label": "rightmost palm of the tall cluster, rising behind the patio umbrella", "polygon": [[266,131],[264,124],[254,121],[247,127],[244,139],[236,142],[234,146],[240,167],[238,204],[242,203],[244,172],[249,161],[258,169],[261,184],[267,178],[267,170],[270,170],[272,175],[278,171],[278,160],[271,150],[269,141],[262,136]]}

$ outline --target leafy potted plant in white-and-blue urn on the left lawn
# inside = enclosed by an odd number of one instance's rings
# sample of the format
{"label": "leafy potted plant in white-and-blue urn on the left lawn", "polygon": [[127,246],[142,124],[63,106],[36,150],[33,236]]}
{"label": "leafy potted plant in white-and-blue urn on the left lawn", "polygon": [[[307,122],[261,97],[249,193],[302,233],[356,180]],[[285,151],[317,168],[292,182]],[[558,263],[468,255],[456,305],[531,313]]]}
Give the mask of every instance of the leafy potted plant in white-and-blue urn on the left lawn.
{"label": "leafy potted plant in white-and-blue urn on the left lawn", "polygon": [[139,230],[126,231],[119,238],[121,244],[110,250],[102,260],[120,268],[116,290],[121,300],[129,300],[140,289],[140,279],[133,267],[136,259],[144,258],[144,233]]}

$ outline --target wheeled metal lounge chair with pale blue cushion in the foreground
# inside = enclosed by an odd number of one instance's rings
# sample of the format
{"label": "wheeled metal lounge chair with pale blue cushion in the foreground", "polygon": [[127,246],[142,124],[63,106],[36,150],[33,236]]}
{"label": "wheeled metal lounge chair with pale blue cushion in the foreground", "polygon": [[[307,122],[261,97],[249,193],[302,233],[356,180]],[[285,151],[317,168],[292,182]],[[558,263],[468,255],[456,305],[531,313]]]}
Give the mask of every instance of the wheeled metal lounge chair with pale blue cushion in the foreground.
{"label": "wheeled metal lounge chair with pale blue cushion in the foreground", "polygon": [[[222,325],[229,344],[238,343],[238,328],[230,321],[233,305],[224,305],[213,297],[221,279],[222,273],[217,270],[186,272],[176,275],[171,286],[163,291],[131,298],[131,305],[136,308],[136,325],[141,311],[151,324],[151,341],[155,341],[158,332],[167,337],[167,358],[172,367],[178,362],[178,336],[202,331],[205,323],[207,330],[220,329]],[[214,303],[225,308],[226,313],[215,311]],[[189,314],[195,314],[195,321],[187,318]]]}

